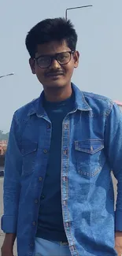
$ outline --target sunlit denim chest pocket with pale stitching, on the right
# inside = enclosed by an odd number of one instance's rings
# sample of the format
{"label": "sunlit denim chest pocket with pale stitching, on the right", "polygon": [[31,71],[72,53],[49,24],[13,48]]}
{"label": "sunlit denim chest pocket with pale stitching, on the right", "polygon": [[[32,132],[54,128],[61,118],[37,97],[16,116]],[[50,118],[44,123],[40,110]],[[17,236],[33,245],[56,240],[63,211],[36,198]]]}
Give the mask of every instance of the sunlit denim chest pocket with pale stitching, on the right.
{"label": "sunlit denim chest pocket with pale stitching, on the right", "polygon": [[91,178],[101,171],[103,148],[104,141],[101,139],[75,141],[76,165],[79,174]]}

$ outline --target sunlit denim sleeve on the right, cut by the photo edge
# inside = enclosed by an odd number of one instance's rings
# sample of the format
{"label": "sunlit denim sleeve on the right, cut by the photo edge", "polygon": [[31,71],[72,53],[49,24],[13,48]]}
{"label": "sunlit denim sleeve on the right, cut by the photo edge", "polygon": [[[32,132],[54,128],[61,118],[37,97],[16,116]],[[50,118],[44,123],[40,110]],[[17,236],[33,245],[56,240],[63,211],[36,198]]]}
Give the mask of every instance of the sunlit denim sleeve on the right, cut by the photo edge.
{"label": "sunlit denim sleeve on the right, cut by the photo edge", "polygon": [[117,180],[115,230],[122,232],[122,113],[115,103],[105,123],[105,154]]}

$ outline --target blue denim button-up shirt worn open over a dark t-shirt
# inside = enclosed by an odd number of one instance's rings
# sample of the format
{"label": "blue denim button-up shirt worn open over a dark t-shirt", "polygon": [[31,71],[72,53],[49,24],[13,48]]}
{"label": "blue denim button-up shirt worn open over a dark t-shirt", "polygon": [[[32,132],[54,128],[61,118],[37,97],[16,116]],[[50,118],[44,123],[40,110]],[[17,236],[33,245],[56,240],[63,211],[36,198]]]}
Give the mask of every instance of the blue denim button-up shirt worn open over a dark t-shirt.
{"label": "blue denim button-up shirt worn open over a dark t-shirt", "polygon": [[[115,231],[122,231],[122,115],[108,98],[72,87],[75,109],[62,124],[65,232],[72,256],[113,256]],[[2,230],[17,232],[19,256],[34,251],[50,154],[51,123],[42,98],[14,113],[6,152]],[[115,213],[111,169],[118,180]]]}

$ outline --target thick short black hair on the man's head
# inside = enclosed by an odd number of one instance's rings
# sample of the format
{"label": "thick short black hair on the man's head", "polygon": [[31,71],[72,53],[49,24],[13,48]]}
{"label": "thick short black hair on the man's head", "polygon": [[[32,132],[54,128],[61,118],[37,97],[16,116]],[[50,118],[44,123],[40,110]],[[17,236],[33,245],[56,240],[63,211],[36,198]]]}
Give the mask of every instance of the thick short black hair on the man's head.
{"label": "thick short black hair on the man's head", "polygon": [[64,40],[71,50],[76,50],[77,34],[72,22],[59,17],[42,20],[36,24],[28,32],[25,44],[31,58],[35,58],[37,45]]}

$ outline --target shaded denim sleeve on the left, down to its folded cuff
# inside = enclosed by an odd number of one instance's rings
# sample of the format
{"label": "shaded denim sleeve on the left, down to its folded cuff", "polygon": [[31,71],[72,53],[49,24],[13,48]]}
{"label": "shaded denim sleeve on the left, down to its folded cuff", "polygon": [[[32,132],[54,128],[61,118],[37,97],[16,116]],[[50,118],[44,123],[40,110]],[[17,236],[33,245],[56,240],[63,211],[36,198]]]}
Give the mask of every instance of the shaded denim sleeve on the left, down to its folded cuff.
{"label": "shaded denim sleeve on the left, down to its folded cuff", "polygon": [[5,233],[17,232],[17,213],[20,198],[20,172],[22,157],[17,146],[17,119],[16,113],[9,132],[9,142],[6,150],[5,175],[3,184],[2,230]]}

